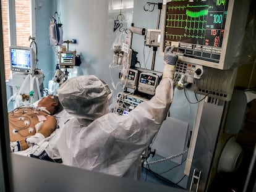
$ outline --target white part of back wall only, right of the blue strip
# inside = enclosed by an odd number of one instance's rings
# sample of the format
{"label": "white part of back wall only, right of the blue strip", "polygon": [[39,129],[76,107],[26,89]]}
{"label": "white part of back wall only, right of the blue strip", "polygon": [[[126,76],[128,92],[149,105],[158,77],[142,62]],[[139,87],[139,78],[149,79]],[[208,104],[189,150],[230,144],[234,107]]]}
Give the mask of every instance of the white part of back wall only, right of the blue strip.
{"label": "white part of back wall only, right of the blue strip", "polygon": [[[135,27],[156,28],[158,9],[153,12],[145,12],[143,6],[147,1],[122,1],[125,6],[121,13],[124,14],[124,28],[129,28],[134,22]],[[158,2],[154,0],[153,2]],[[112,62],[113,51],[111,46],[119,36],[119,30],[114,31],[114,20],[120,14],[121,1],[109,0],[62,0],[58,1],[58,13],[61,14],[63,23],[64,40],[76,39],[77,44],[69,44],[69,50],[76,50],[81,55],[82,64],[75,67],[75,75],[96,75],[111,85],[109,64]],[[127,8],[126,8],[127,7]],[[114,9],[117,8],[117,9]],[[143,61],[144,36],[133,35],[132,48],[139,52],[138,59]],[[145,56],[148,57],[148,69],[151,69],[152,51],[148,56],[149,48],[145,48]],[[146,58],[147,59],[147,58]],[[163,57],[157,63],[162,70]],[[142,67],[145,67],[142,65]],[[117,70],[111,70],[115,83],[118,81]],[[72,76],[72,74],[70,74]],[[113,87],[111,87],[113,88]]]}

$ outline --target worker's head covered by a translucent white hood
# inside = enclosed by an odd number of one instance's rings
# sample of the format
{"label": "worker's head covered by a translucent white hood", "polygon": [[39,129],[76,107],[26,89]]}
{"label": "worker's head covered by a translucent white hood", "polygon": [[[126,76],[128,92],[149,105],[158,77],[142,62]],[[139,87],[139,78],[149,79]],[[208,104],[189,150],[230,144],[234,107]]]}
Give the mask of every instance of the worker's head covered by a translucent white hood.
{"label": "worker's head covered by a translucent white hood", "polygon": [[79,119],[95,120],[107,114],[112,102],[108,85],[94,75],[70,78],[57,93],[64,109]]}

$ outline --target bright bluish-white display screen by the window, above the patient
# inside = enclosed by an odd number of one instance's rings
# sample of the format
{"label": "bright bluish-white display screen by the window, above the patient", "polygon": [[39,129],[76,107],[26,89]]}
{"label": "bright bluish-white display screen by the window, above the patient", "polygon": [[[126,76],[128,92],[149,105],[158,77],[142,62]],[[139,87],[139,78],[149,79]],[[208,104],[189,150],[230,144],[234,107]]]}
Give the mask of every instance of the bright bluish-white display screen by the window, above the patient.
{"label": "bright bluish-white display screen by the window, above the patient", "polygon": [[11,67],[12,70],[25,72],[30,70],[30,49],[29,48],[11,48]]}

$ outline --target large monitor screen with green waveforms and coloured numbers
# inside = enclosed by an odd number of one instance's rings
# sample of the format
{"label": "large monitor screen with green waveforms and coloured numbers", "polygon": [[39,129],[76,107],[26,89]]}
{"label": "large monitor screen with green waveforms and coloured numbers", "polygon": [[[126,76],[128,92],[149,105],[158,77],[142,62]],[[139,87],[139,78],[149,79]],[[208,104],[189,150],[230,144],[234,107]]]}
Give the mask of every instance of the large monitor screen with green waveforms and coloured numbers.
{"label": "large monitor screen with green waveforms and coloured numbers", "polygon": [[183,56],[219,62],[228,0],[170,1],[166,4],[164,48]]}

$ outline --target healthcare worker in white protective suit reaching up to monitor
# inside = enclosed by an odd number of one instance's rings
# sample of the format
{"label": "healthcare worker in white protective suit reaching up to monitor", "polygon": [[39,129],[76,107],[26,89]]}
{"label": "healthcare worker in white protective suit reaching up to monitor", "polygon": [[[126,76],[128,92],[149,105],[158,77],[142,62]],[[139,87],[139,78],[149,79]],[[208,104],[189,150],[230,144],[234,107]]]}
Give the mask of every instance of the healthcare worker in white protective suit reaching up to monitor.
{"label": "healthcare worker in white protective suit reaching up to monitor", "polygon": [[62,161],[87,170],[139,179],[140,155],[148,148],[173,101],[177,56],[164,52],[163,78],[150,101],[128,115],[109,112],[111,90],[94,75],[73,77],[58,89],[59,101],[75,118],[62,129],[58,148]]}

